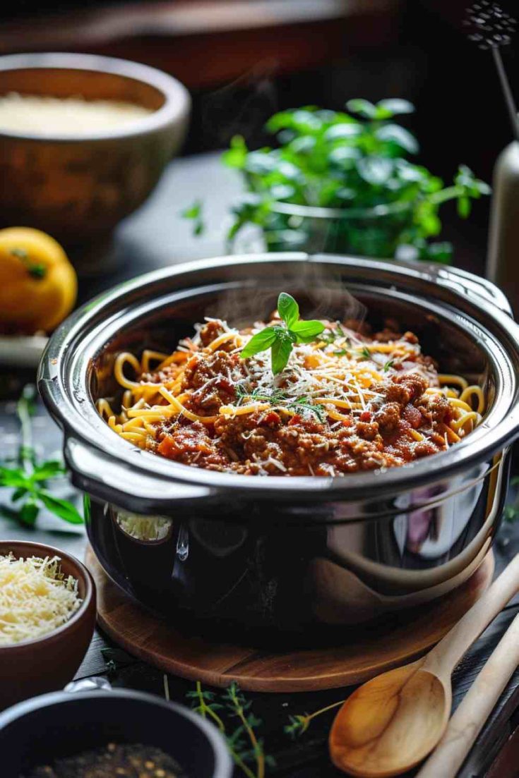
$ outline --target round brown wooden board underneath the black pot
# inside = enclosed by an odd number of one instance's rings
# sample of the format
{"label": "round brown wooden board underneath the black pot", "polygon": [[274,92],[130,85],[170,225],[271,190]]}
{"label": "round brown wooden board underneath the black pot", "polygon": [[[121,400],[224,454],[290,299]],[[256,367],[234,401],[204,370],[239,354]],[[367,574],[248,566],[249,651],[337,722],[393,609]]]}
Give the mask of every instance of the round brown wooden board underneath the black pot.
{"label": "round brown wooden board underneath the black pot", "polygon": [[211,643],[182,633],[138,605],[104,573],[91,548],[87,566],[97,584],[97,620],[129,654],[173,675],[228,686],[237,681],[254,692],[309,692],[336,689],[373,678],[419,657],[461,619],[493,577],[489,552],[471,578],[451,594],[424,605],[410,619],[395,619],[383,635],[373,630],[354,644],[316,650],[269,653],[266,650]]}

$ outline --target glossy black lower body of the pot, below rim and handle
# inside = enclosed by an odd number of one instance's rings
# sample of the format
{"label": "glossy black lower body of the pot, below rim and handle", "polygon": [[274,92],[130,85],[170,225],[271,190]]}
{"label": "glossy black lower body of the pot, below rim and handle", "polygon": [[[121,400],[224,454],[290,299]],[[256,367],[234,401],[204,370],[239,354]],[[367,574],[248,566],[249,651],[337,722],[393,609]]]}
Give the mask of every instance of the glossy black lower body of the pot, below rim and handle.
{"label": "glossy black lower body of the pot, below rim and handle", "polygon": [[[496,457],[454,478],[436,503],[430,489],[397,498],[400,510],[384,519],[288,524],[280,514],[273,523],[228,505],[225,519],[179,511],[173,520],[93,502],[87,527],[111,578],[175,623],[220,624],[237,640],[245,626],[315,640],[316,628],[368,622],[463,584],[496,531],[506,464]],[[425,509],[405,512],[421,498]]]}

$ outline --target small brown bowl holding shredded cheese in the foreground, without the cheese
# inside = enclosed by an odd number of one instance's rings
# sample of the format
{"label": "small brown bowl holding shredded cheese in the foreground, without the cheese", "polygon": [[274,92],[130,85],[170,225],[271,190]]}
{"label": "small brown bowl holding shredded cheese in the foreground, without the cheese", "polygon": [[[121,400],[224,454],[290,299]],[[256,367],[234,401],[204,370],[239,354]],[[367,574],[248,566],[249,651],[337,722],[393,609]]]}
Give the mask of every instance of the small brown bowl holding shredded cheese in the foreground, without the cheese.
{"label": "small brown bowl holding shredded cheese in the foreground, without the cheese", "polygon": [[58,556],[62,572],[78,581],[83,600],[58,629],[36,640],[0,646],[0,710],[21,699],[62,689],[72,680],[87,653],[96,622],[95,584],[87,568],[58,548],[26,541],[0,541],[0,555]]}

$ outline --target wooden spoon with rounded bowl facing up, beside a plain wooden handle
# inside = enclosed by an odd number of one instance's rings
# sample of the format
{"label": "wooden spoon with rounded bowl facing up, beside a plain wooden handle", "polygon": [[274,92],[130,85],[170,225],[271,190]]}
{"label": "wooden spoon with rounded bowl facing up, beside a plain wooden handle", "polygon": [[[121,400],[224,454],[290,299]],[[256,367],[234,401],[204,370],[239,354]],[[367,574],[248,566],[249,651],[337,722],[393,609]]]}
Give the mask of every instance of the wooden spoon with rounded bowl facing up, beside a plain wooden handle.
{"label": "wooden spoon with rounded bowl facing up, beside a plain wooden handle", "polygon": [[454,668],[517,591],[519,554],[429,654],[353,692],[330,732],[334,765],[360,778],[389,778],[422,762],[447,727]]}

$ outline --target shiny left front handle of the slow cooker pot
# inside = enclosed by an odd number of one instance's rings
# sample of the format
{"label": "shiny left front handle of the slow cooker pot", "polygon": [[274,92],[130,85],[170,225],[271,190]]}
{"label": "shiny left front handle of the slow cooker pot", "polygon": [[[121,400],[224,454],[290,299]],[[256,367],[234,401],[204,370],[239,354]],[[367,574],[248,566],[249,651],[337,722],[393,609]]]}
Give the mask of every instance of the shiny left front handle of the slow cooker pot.
{"label": "shiny left front handle of the slow cooker pot", "polygon": [[83,492],[106,503],[136,513],[164,510],[164,503],[190,503],[208,499],[213,492],[206,486],[185,484],[163,478],[157,489],[157,477],[118,464],[99,449],[94,449],[73,436],[65,440],[65,462],[72,471],[72,483]]}

